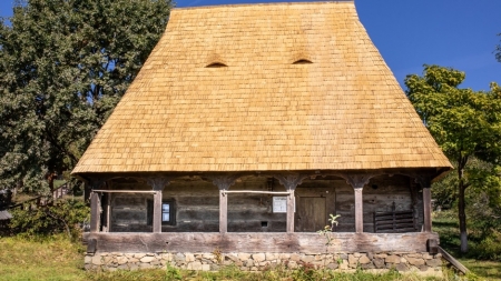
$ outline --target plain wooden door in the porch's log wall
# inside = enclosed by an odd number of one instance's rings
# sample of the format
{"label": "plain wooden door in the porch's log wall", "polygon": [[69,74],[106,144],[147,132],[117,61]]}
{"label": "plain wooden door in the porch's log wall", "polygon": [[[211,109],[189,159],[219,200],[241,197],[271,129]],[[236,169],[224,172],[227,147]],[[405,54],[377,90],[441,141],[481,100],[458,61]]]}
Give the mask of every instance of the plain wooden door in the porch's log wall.
{"label": "plain wooden door in the porch's log wall", "polygon": [[296,210],[295,231],[316,232],[327,224],[325,198],[301,197]]}

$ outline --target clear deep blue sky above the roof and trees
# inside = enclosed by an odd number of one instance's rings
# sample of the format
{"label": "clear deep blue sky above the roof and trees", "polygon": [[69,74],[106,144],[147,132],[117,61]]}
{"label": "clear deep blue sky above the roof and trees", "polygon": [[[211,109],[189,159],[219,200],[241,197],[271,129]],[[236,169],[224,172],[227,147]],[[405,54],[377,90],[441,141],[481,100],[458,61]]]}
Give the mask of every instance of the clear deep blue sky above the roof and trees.
{"label": "clear deep blue sky above the roof and trees", "polygon": [[[0,0],[0,16],[13,0]],[[177,7],[275,2],[256,0],[178,0]],[[488,90],[501,83],[501,0],[355,0],[358,17],[399,82],[422,73],[423,64],[466,72],[464,88]]]}

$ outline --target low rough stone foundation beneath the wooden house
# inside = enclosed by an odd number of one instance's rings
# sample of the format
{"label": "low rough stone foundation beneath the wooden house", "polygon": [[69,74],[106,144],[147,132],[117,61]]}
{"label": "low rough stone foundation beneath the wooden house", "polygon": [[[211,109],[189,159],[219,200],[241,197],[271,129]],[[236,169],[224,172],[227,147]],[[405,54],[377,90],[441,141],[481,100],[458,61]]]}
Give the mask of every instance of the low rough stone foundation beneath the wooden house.
{"label": "low rough stone foundation beneath the wooden house", "polygon": [[217,271],[235,265],[243,271],[263,271],[277,265],[286,269],[313,267],[336,271],[396,269],[422,274],[442,274],[442,255],[424,253],[117,253],[87,254],[87,270],[136,270],[165,268],[167,264],[186,270]]}

